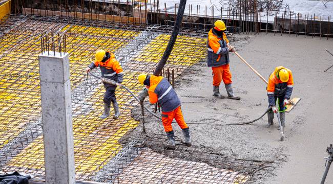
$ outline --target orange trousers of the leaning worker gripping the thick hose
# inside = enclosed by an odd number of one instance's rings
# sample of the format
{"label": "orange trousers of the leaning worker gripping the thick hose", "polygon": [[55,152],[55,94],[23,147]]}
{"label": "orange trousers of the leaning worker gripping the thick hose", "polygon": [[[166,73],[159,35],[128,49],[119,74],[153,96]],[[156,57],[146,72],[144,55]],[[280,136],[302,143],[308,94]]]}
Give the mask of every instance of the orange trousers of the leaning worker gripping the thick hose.
{"label": "orange trousers of the leaning worker gripping the thick hose", "polygon": [[162,112],[162,123],[165,132],[172,131],[172,121],[176,119],[176,122],[181,129],[188,128],[189,126],[185,123],[183,113],[181,112],[180,106],[170,112]]}

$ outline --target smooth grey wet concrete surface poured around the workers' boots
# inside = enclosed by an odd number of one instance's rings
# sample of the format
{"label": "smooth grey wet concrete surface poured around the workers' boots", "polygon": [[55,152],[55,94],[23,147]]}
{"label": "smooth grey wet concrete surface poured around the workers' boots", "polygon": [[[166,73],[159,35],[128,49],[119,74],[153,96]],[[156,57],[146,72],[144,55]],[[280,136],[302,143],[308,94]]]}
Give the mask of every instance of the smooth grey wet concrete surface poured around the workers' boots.
{"label": "smooth grey wet concrete surface poured around the workers' boots", "polygon": [[[189,125],[192,147],[209,149],[230,159],[272,164],[276,169],[257,183],[319,183],[324,171],[323,157],[328,156],[326,146],[333,143],[330,108],[333,70],[324,73],[333,64],[333,57],[324,50],[333,51],[333,39],[261,33],[234,35],[230,40],[237,52],[265,78],[279,65],[292,70],[295,81],[292,97],[302,100],[286,114],[284,142],[279,141],[276,117],[275,125],[270,128],[265,128],[267,116],[251,125],[226,125],[253,120],[264,113],[268,106],[266,84],[236,55],[230,54],[234,91],[242,99],[216,99],[212,96],[211,68],[202,61],[193,66],[198,71],[196,74],[184,72],[175,87],[185,121],[205,123]],[[226,96],[223,83],[220,93]],[[133,113],[139,114],[140,109]],[[147,136],[166,140],[160,121],[151,117],[146,121]],[[179,142],[183,139],[181,129],[177,124],[173,127]],[[141,132],[139,126],[131,136],[146,136]],[[327,183],[333,183],[332,173],[328,173]]]}

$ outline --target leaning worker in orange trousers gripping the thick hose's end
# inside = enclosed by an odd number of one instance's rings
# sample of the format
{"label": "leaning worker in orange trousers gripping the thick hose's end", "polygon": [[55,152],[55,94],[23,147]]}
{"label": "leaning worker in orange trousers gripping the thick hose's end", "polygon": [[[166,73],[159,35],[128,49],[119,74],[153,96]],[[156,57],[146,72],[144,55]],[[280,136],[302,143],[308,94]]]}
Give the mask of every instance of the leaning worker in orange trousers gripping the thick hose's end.
{"label": "leaning worker in orange trousers gripping the thick hose's end", "polygon": [[175,149],[176,147],[175,134],[171,125],[173,119],[176,119],[182,129],[185,141],[181,143],[191,146],[190,128],[184,121],[180,109],[180,100],[168,80],[162,76],[149,76],[147,74],[140,74],[138,80],[141,84],[146,85],[139,95],[139,100],[143,101],[145,97],[149,96],[150,103],[155,104],[158,102],[158,105],[162,107],[162,123],[166,136],[168,136],[168,147],[170,149]]}

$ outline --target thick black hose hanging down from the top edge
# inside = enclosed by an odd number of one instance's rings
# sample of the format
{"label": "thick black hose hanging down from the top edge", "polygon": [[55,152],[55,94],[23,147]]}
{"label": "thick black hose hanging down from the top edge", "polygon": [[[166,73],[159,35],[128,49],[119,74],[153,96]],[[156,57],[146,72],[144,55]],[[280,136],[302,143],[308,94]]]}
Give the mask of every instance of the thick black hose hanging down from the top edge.
{"label": "thick black hose hanging down from the top edge", "polygon": [[186,0],[180,0],[174,29],[172,30],[172,34],[171,34],[169,43],[166,46],[163,56],[162,56],[161,60],[159,60],[157,66],[156,66],[156,70],[153,74],[155,76],[159,76],[159,74],[161,73],[161,71],[162,71],[166,61],[168,60],[170,53],[175,45],[175,42],[176,42],[176,39],[177,39],[177,36],[179,33],[179,29],[180,29],[181,20],[183,19],[185,6],[186,6]]}

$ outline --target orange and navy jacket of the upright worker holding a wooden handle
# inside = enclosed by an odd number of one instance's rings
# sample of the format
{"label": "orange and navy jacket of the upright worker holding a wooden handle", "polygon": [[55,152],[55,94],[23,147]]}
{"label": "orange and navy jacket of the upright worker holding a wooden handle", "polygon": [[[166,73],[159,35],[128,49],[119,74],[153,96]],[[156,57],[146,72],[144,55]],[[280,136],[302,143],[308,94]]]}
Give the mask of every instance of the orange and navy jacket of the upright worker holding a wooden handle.
{"label": "orange and navy jacket of the upright worker holding a wooden handle", "polygon": [[225,33],[223,33],[223,39],[215,33],[214,28],[208,33],[207,40],[207,65],[221,66],[229,63],[229,49],[226,47],[228,43]]}

